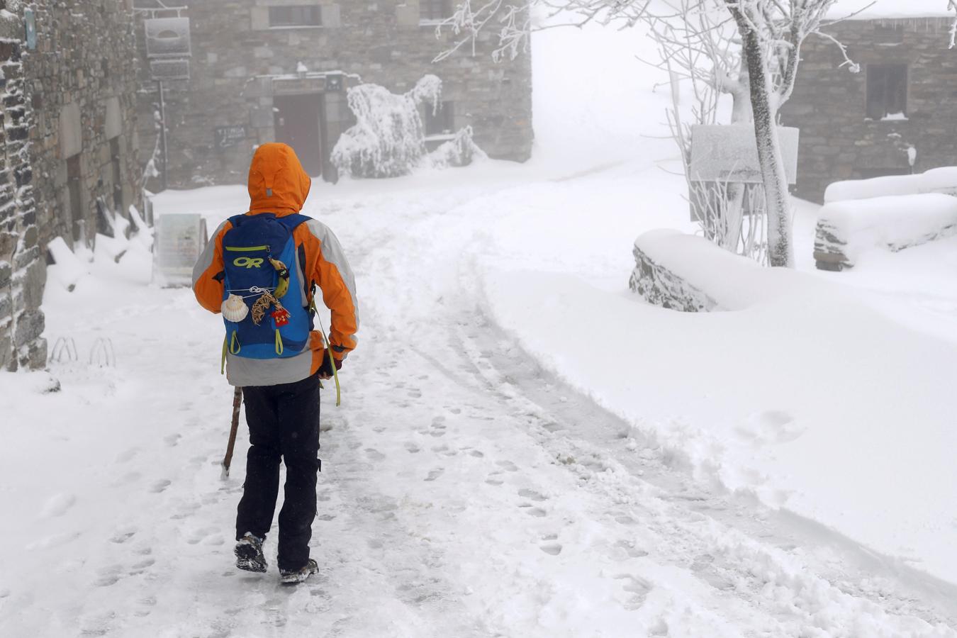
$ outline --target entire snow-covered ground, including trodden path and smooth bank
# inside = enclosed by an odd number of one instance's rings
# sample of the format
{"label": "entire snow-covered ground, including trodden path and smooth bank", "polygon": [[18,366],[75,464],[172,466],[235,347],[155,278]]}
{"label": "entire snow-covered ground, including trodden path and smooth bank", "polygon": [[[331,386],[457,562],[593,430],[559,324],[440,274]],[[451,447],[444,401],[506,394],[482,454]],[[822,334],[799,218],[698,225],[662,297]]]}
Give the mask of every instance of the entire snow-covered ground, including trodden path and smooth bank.
{"label": "entire snow-covered ground, including trodden path and smooth bank", "polygon": [[[957,240],[811,273],[801,204],[800,295],[648,306],[635,236],[693,227],[645,45],[535,46],[528,165],[307,203],[363,318],[344,405],[323,403],[314,581],[233,567],[246,443],[221,480],[218,319],[148,285],[139,244],[72,293],[51,277],[47,338],[78,360],[0,375],[0,635],[957,635]],[[612,54],[615,81],[590,79]]]}

